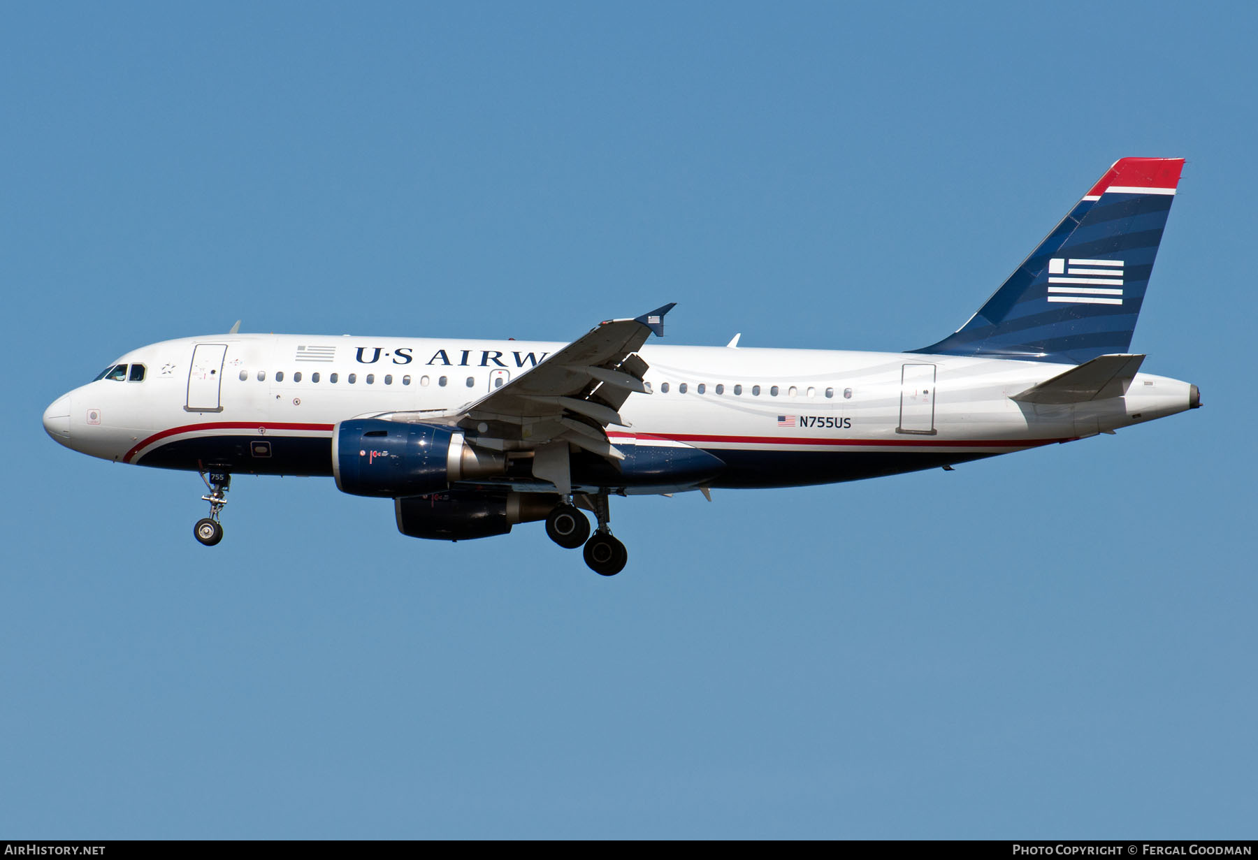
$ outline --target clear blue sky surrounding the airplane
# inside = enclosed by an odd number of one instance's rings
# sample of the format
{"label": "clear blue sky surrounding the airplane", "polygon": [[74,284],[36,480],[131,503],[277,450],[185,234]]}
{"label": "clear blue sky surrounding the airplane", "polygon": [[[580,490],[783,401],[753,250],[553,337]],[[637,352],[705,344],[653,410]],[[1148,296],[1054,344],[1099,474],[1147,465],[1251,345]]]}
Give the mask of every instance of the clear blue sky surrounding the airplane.
{"label": "clear blue sky surrounding the airplane", "polygon": [[[1250,4],[8,4],[0,837],[1254,836]],[[898,350],[1108,165],[1205,407],[952,473],[400,536],[45,438],[244,331]]]}

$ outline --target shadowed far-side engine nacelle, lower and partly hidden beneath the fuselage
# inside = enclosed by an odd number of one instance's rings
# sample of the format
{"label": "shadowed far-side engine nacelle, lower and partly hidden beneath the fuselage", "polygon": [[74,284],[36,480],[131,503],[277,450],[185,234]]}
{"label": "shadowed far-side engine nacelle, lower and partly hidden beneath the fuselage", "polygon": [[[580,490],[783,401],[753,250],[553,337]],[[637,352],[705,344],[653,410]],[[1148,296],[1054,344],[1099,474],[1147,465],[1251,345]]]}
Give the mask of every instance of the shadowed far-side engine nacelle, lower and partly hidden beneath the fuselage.
{"label": "shadowed far-side engine nacelle, lower and partly hidden beneath the fuselage", "polygon": [[489,495],[464,490],[394,499],[398,531],[433,541],[470,541],[506,534],[516,523],[545,519],[560,498],[543,493]]}

